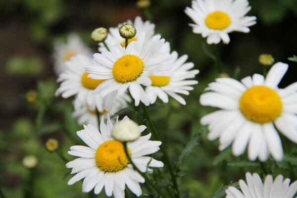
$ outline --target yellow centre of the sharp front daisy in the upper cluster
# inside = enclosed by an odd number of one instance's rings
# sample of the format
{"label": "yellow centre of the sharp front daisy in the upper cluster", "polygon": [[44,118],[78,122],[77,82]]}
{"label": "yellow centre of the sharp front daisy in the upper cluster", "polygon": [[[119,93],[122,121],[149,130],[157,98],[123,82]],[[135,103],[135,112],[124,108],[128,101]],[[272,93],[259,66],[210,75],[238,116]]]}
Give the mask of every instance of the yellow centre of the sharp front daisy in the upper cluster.
{"label": "yellow centre of the sharp front daisy in the upper cluster", "polygon": [[135,81],[143,72],[144,63],[136,55],[124,55],[113,65],[113,78],[118,83]]}

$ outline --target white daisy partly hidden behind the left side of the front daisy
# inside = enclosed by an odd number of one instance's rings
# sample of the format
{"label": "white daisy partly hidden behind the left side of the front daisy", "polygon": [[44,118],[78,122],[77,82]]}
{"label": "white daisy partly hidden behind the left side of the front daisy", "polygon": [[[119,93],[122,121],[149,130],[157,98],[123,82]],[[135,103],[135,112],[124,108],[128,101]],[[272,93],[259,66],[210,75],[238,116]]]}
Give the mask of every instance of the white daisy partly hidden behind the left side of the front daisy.
{"label": "white daisy partly hidden behind the left side of the front daisy", "polygon": [[56,96],[63,98],[76,96],[74,108],[79,109],[81,105],[88,105],[91,111],[98,109],[103,111],[102,99],[98,95],[92,95],[93,90],[104,80],[95,80],[88,78],[89,73],[85,72],[84,66],[94,64],[91,57],[78,54],[73,56],[70,61],[65,62],[67,69],[59,75],[57,79],[61,82],[56,91]]}

